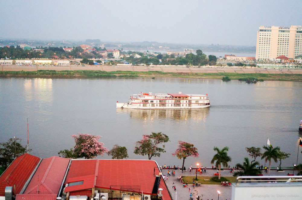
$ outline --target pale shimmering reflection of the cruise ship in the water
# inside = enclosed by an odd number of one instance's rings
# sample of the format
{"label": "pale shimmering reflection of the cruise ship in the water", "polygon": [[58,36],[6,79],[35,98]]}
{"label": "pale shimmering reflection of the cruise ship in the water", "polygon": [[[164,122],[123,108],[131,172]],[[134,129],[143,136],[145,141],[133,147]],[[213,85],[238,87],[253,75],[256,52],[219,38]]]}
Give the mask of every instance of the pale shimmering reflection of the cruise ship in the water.
{"label": "pale shimmering reflection of the cruise ship in the water", "polygon": [[209,114],[210,108],[199,109],[123,109],[117,108],[117,113],[129,114],[130,118],[137,118],[140,120],[161,120],[172,119],[174,121],[205,121]]}

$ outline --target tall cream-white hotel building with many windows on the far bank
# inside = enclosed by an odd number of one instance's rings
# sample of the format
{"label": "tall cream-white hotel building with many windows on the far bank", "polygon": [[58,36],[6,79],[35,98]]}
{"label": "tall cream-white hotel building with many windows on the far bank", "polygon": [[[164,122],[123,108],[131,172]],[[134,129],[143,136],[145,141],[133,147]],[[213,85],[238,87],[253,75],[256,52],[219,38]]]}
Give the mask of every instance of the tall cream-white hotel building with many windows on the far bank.
{"label": "tall cream-white hotel building with many windows on the far bank", "polygon": [[264,27],[257,32],[256,60],[302,55],[302,26]]}

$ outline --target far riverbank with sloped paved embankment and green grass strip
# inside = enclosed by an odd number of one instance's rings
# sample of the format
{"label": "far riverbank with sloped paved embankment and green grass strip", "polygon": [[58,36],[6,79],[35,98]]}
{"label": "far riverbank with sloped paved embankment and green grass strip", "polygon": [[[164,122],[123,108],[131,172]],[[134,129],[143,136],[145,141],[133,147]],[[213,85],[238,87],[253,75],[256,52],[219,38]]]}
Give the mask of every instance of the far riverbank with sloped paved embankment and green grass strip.
{"label": "far riverbank with sloped paved embankment and green grass strip", "polygon": [[302,69],[264,69],[240,67],[152,67],[152,66],[16,66],[0,68],[0,77],[98,78],[98,77],[174,77],[231,80],[253,77],[263,80],[302,81]]}

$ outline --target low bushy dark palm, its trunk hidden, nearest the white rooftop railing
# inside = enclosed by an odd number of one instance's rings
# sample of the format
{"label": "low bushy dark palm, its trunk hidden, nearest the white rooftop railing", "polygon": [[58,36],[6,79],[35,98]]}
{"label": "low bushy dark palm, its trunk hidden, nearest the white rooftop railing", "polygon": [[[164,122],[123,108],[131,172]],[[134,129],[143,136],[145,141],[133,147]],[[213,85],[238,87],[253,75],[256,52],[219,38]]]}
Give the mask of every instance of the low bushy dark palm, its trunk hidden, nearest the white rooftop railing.
{"label": "low bushy dark palm, its trunk hidden, nearest the white rooftop railing", "polygon": [[249,158],[244,158],[243,164],[237,163],[235,166],[240,169],[233,174],[233,177],[238,176],[257,176],[261,171],[256,168],[256,165],[259,165],[258,161],[254,163],[249,163]]}

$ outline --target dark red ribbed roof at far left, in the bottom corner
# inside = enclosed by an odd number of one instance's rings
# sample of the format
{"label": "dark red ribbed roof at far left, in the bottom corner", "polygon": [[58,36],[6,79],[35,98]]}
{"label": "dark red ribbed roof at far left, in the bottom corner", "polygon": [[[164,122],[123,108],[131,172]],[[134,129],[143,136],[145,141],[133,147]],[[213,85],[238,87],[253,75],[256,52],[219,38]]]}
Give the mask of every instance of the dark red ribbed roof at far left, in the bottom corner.
{"label": "dark red ribbed roof at far left, in the bottom corner", "polygon": [[[0,177],[0,196],[4,196],[6,186],[14,184],[19,194],[39,161],[40,158],[27,153],[16,158]],[[16,195],[14,189],[13,194]]]}

